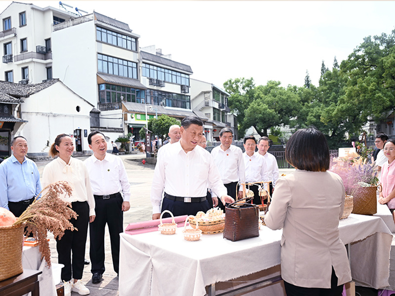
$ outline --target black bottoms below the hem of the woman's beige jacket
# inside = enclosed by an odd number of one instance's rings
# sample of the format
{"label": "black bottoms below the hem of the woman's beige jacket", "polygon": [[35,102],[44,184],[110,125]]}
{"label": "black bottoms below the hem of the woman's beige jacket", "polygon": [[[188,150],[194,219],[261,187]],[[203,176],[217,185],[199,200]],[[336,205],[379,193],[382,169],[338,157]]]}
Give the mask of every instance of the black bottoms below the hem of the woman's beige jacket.
{"label": "black bottoms below the hem of the woman's beige jacket", "polygon": [[332,267],[331,288],[304,288],[294,286],[284,281],[285,293],[287,296],[342,296],[343,285],[337,286],[337,276]]}

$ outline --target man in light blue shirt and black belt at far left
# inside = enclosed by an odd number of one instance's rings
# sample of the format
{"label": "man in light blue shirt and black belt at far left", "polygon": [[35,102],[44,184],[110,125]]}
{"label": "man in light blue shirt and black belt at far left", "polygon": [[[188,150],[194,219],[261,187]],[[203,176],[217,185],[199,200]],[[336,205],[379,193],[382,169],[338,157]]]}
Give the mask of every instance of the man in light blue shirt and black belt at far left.
{"label": "man in light blue shirt and black belt at far left", "polygon": [[12,155],[0,164],[0,207],[19,217],[41,191],[40,173],[36,163],[26,157],[24,137],[12,139],[11,150]]}

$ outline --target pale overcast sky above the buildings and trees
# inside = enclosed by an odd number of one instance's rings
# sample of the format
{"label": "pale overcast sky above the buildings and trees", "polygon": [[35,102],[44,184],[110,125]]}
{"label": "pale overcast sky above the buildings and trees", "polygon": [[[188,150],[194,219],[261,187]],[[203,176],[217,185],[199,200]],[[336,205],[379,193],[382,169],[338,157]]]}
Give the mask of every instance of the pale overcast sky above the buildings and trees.
{"label": "pale overcast sky above the buildings and trees", "polygon": [[[19,1],[59,8],[59,1]],[[321,62],[332,69],[363,42],[391,34],[395,1],[64,1],[125,22],[140,47],[156,45],[192,67],[192,78],[222,87],[253,77],[317,85]],[[0,1],[3,11],[11,1]],[[63,8],[61,8],[63,9]],[[70,8],[69,8],[70,9]]]}

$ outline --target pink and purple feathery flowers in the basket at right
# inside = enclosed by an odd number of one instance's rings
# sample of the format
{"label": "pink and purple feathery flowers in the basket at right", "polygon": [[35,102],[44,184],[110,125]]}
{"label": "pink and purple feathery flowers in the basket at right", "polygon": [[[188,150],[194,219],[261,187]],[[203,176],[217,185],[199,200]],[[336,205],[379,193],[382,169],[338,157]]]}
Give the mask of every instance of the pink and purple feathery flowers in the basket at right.
{"label": "pink and purple feathery flowers in the basket at right", "polygon": [[346,194],[354,195],[358,187],[367,187],[378,182],[377,166],[368,162],[368,158],[355,152],[345,157],[331,159],[331,172],[338,174],[346,189]]}

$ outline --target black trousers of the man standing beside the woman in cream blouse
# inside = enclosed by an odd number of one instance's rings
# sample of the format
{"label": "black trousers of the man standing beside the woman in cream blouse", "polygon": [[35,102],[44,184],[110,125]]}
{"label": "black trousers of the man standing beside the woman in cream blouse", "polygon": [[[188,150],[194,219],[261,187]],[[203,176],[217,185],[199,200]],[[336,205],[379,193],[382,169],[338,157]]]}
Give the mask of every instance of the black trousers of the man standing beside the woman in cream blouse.
{"label": "black trousers of the man standing beside the woman in cream blouse", "polygon": [[104,267],[104,232],[106,224],[110,232],[111,256],[114,271],[119,273],[119,233],[123,232],[122,195],[118,192],[109,199],[95,197],[95,221],[89,224],[91,272],[103,274]]}

